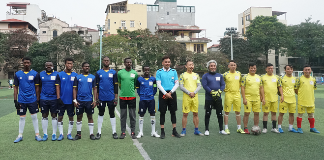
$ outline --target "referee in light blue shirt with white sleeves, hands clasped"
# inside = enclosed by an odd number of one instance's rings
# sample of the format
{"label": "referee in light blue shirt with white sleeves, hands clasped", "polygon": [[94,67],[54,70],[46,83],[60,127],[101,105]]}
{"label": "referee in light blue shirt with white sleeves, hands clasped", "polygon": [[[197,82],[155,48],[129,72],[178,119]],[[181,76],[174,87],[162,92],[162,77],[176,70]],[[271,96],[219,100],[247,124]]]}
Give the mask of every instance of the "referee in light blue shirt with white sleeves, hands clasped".
{"label": "referee in light blue shirt with white sleeves, hands clasped", "polygon": [[181,137],[177,133],[177,93],[176,89],[179,86],[177,71],[171,69],[171,60],[170,57],[165,55],[162,57],[163,68],[156,71],[156,84],[159,88],[159,112],[160,114],[160,125],[161,125],[161,136],[160,138],[165,138],[164,132],[164,122],[165,114],[167,110],[171,114],[171,123],[173,127],[172,136]]}

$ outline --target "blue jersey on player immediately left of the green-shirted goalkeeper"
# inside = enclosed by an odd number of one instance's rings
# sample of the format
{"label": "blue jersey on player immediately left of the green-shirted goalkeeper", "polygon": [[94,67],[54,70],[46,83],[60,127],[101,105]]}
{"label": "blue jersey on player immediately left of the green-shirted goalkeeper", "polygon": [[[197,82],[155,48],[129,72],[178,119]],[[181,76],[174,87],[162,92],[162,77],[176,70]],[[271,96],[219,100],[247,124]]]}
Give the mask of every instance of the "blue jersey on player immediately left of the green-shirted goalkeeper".
{"label": "blue jersey on player immediately left of the green-shirted goalkeeper", "polygon": [[95,77],[99,89],[99,100],[113,101],[115,99],[114,84],[118,84],[117,72],[111,68],[108,71],[100,69]]}

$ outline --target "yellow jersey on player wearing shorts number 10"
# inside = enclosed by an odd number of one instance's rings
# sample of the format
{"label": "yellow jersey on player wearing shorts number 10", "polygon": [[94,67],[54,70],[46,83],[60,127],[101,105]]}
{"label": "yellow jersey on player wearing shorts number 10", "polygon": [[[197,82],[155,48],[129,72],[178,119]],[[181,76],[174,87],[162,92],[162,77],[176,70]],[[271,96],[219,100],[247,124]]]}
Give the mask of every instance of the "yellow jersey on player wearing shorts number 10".
{"label": "yellow jersey on player wearing shorts number 10", "polygon": [[277,102],[278,87],[281,86],[280,77],[274,74],[272,76],[264,74],[261,76],[261,80],[265,90],[265,101]]}

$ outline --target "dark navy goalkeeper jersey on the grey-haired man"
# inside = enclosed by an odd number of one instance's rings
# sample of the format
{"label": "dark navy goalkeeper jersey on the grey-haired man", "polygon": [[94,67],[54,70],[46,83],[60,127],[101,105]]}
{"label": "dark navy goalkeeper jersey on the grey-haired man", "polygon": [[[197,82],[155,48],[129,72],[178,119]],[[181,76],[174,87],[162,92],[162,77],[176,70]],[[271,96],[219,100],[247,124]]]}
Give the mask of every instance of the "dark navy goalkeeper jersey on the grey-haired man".
{"label": "dark navy goalkeeper jersey on the grey-haired man", "polygon": [[[205,96],[206,100],[213,100],[210,92],[211,90],[217,91],[218,89],[224,91],[225,89],[225,81],[223,75],[219,73],[210,74],[209,72],[203,76],[202,79],[203,87],[206,91]],[[222,97],[219,97],[222,99]]]}

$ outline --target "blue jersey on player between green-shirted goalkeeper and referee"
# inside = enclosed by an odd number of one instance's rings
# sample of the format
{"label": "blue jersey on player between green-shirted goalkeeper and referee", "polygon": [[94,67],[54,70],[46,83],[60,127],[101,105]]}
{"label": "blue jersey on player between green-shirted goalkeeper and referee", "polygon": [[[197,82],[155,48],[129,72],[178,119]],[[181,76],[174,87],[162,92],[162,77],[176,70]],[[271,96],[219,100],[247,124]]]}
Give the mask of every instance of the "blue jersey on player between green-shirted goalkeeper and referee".
{"label": "blue jersey on player between green-shirted goalkeeper and referee", "polygon": [[156,80],[154,77],[149,78],[139,77],[136,82],[137,94],[140,96],[140,101],[154,100],[157,91]]}

